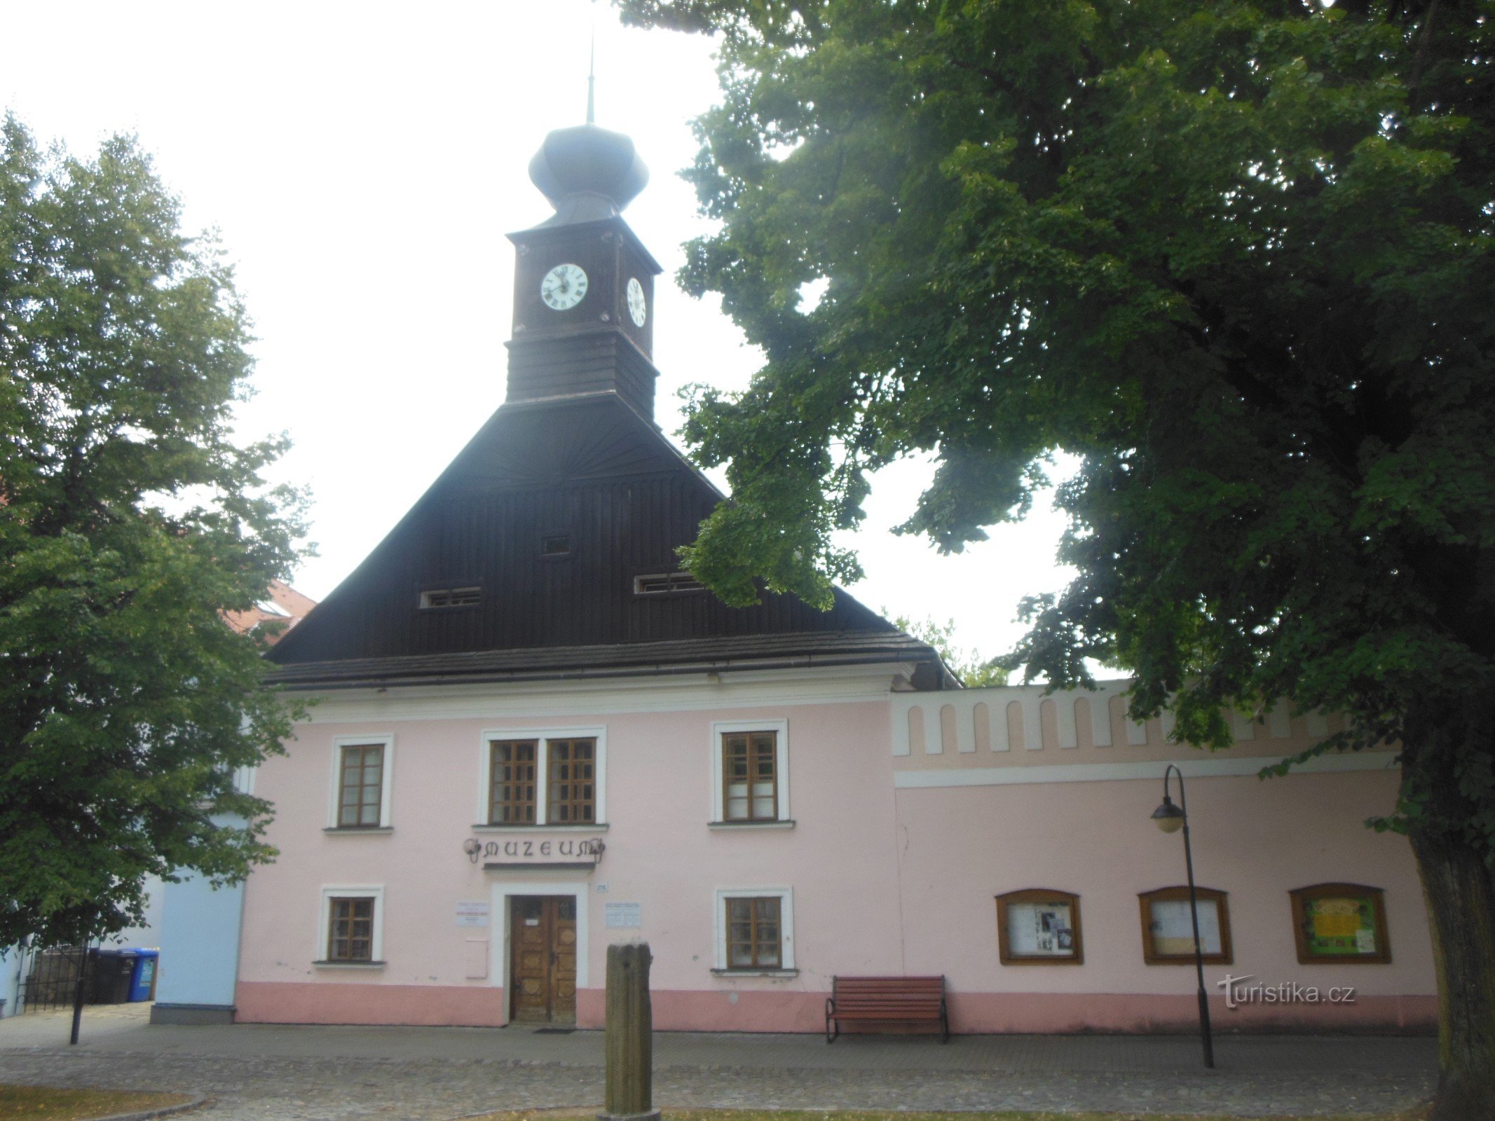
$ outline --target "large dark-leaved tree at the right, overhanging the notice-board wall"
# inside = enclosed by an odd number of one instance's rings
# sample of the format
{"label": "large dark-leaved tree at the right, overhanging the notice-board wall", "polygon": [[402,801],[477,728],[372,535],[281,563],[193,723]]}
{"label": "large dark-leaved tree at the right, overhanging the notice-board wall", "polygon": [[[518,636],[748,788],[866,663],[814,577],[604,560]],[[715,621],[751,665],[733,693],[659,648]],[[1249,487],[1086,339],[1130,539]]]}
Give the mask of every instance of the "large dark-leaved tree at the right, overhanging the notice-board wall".
{"label": "large dark-leaved tree at the right, overhanging the notice-board wall", "polygon": [[869,469],[936,450],[903,529],[960,550],[1076,454],[1015,661],[1200,746],[1278,698],[1398,741],[1435,1117],[1492,1117],[1495,4],[619,3],[722,34],[682,277],[767,354],[694,395],[692,571],[824,602]]}

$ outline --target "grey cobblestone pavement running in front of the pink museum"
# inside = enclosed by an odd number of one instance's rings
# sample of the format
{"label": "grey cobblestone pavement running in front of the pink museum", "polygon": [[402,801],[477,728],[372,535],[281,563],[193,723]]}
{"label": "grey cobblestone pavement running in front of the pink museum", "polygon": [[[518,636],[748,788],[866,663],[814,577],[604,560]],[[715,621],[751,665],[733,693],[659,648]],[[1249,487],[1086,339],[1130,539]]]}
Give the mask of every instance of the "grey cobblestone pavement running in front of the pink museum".
{"label": "grey cobblestone pavement running in front of the pink museum", "polygon": [[[602,1099],[601,1034],[523,1028],[160,1027],[144,1006],[0,1021],[0,1081],[196,1090],[203,1121],[450,1121]],[[1242,1036],[1215,1070],[1178,1036],[931,1039],[661,1033],[665,1106],[1359,1114],[1432,1093],[1431,1039]]]}

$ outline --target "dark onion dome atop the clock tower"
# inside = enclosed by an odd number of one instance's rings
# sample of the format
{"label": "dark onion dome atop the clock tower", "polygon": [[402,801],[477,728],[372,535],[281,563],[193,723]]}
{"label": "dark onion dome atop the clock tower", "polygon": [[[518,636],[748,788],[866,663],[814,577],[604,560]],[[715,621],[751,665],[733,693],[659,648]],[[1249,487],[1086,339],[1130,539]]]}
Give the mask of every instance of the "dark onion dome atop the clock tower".
{"label": "dark onion dome atop the clock tower", "polygon": [[649,182],[649,169],[628,136],[579,124],[546,136],[529,179],[556,208],[543,224],[570,226],[616,217]]}

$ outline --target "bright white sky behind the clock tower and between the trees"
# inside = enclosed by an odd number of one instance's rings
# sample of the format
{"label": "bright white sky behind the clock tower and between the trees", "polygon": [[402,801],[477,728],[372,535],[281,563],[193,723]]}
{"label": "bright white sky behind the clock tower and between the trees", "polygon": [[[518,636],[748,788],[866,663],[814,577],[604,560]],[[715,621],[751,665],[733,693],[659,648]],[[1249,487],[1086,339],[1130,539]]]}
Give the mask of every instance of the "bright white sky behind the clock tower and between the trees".
{"label": "bright white sky behind the clock tower and between the trees", "polygon": [[[625,218],[664,266],[656,285],[656,420],[677,392],[748,384],[761,356],[715,299],[673,282],[683,241],[710,233],[677,176],[691,120],[718,96],[713,45],[619,25],[589,0],[486,3],[12,3],[0,106],[73,154],[133,132],[184,206],[215,229],[254,320],[245,438],[286,430],[275,481],[308,486],[317,556],[296,586],[326,596],[504,399],[513,247],[550,214],[528,164],[580,124],[591,34],[597,123],[632,136],[652,172]],[[1061,517],[1035,510],[963,555],[890,528],[927,462],[879,472],[849,541],[848,590],[915,620],[955,620],[994,656],[1023,632],[1024,595],[1052,592]],[[718,475],[718,481],[721,477]]]}

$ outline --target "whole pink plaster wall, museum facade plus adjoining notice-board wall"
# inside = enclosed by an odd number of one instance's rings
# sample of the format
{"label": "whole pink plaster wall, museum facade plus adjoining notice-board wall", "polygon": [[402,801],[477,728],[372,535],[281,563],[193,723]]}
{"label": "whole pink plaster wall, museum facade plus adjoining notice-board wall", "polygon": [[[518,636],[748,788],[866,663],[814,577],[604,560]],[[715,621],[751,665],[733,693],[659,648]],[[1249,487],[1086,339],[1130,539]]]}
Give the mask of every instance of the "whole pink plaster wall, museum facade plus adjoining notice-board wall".
{"label": "whole pink plaster wall, museum facade plus adjoining notice-board wall", "polygon": [[[993,713],[1002,711],[999,702]],[[792,830],[713,831],[713,720],[789,722]],[[468,978],[469,940],[501,937],[454,922],[459,900],[490,900],[505,880],[586,885],[591,979],[583,1027],[602,1022],[610,939],[650,943],[661,1030],[818,1031],[831,978],[943,973],[952,1027],[964,1031],[1186,1028],[1193,972],[1145,966],[1136,894],[1180,883],[1181,839],[1148,819],[1157,780],[894,789],[894,771],[1006,764],[976,753],[894,759],[888,701],[567,719],[423,719],[308,723],[289,756],[260,770],[277,804],[269,841],[280,859],[256,870],[245,897],[239,1018],[281,1022],[495,1024],[507,1018],[499,973]],[[901,717],[900,717],[901,719]],[[484,871],[468,861],[486,729],[607,728],[608,830],[595,871]],[[392,833],[329,836],[332,740],[396,737]],[[1157,729],[1150,728],[1156,735]],[[1011,752],[1012,765],[1082,761],[1091,752],[1151,761],[1157,744]],[[1051,744],[1049,744],[1051,746]],[[1275,744],[1274,744],[1275,746]],[[1171,749],[1177,752],[1178,749]],[[1042,756],[1042,758],[1035,758]],[[1159,767],[1159,773],[1162,767]],[[1405,841],[1372,834],[1390,807],[1389,773],[1190,779],[1199,882],[1227,891],[1232,972],[1260,979],[1357,985],[1351,1006],[1218,1012],[1233,1027],[1420,1027],[1434,1015],[1431,951]],[[484,839],[495,834],[484,834]],[[1299,966],[1287,891],[1353,880],[1386,891],[1392,963]],[[383,885],[383,970],[311,963],[323,885]],[[605,883],[601,894],[597,886]],[[716,888],[792,886],[798,975],[718,978]],[[1003,967],[999,892],[1058,888],[1081,895],[1085,963]],[[522,891],[522,886],[513,886]],[[607,901],[638,903],[640,930],[604,927]],[[1209,981],[1224,967],[1211,967]]]}

